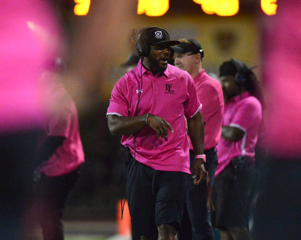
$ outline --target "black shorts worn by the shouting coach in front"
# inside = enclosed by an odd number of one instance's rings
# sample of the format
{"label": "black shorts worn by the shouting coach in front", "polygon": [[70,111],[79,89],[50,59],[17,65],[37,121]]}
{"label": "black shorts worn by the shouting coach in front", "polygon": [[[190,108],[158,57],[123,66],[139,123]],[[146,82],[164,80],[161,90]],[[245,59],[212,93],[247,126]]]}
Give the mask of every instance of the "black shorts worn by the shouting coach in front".
{"label": "black shorts worn by the shouting coach in front", "polygon": [[178,230],[189,174],[154,170],[131,158],[127,175],[133,239],[156,234],[162,224]]}

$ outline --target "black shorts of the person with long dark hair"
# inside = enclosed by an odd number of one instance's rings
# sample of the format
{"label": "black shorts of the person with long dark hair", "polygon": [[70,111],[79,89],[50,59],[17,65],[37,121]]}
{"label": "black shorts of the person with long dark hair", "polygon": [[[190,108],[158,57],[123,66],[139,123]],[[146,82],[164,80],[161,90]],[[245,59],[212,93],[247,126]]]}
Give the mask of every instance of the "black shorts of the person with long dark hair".
{"label": "black shorts of the person with long dark hair", "polygon": [[255,174],[247,160],[232,162],[215,177],[212,195],[216,227],[247,227],[247,202]]}

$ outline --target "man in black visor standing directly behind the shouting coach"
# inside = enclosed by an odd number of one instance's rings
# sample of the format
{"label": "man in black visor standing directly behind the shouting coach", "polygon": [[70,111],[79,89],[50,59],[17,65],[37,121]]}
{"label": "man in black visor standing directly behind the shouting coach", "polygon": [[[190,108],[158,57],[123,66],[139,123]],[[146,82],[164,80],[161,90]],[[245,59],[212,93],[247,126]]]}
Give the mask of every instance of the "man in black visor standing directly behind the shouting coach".
{"label": "man in black visor standing directly behind the shouting coach", "polygon": [[[224,96],[222,86],[218,80],[210,77],[202,69],[204,52],[201,44],[195,39],[180,39],[178,46],[173,46],[175,66],[187,71],[194,80],[197,96],[203,104],[202,115],[204,120],[206,155],[205,169],[208,172],[209,182],[212,185],[217,166],[216,145],[222,132],[224,114]],[[187,130],[189,135],[189,132]],[[188,136],[189,138],[189,136]],[[189,138],[190,140],[190,138]],[[193,171],[195,154],[192,145],[189,145],[190,169]],[[183,218],[178,231],[179,239],[213,240],[214,234],[209,214],[209,200],[207,192],[207,179],[204,178],[199,185],[188,182],[186,203],[183,208]],[[209,202],[208,202],[209,203]]]}

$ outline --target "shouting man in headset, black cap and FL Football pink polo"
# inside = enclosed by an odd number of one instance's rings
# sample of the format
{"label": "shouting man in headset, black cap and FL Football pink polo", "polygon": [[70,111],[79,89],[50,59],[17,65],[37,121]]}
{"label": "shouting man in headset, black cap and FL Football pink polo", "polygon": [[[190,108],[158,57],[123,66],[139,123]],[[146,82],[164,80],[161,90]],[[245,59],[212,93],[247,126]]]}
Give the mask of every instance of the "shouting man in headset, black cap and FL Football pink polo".
{"label": "shouting man in headset, black cap and FL Football pink polo", "polygon": [[[123,135],[121,143],[129,148],[134,240],[174,239],[187,183],[199,184],[206,173],[202,104],[191,76],[167,64],[170,46],[179,43],[160,27],[141,29],[136,44],[141,60],[116,83],[107,110],[110,132]],[[196,154],[193,179],[184,116]]]}

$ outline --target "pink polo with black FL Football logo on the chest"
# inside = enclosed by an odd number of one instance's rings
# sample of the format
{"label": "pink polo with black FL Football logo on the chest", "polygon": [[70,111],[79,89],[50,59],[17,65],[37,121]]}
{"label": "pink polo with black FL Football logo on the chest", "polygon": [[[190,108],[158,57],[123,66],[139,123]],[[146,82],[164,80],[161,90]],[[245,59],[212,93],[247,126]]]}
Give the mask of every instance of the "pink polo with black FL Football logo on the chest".
{"label": "pink polo with black FL Football logo on the chest", "polygon": [[[141,60],[138,66],[116,82],[107,115],[135,116],[141,89]],[[165,119],[174,133],[168,131],[166,138],[158,138],[155,130],[145,126],[136,133],[136,160],[162,171],[189,169],[189,142],[185,118],[190,119],[202,107],[197,98],[191,76],[183,70],[167,65],[163,73],[154,76],[142,66],[142,92],[136,116],[151,113]],[[123,136],[121,143],[129,146],[134,156],[134,135]]]}

